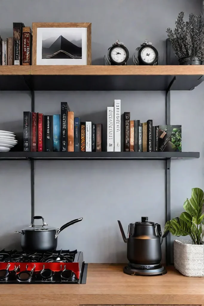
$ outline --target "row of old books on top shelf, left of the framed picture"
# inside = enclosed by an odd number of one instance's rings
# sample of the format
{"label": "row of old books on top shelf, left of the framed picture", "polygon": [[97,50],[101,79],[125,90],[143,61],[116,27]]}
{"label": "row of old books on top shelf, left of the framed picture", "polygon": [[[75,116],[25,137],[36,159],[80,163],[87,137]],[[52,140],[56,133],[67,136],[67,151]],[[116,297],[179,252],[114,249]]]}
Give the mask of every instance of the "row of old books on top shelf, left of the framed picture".
{"label": "row of old books on top shelf, left of the framed picture", "polygon": [[13,23],[13,37],[0,36],[0,65],[31,65],[32,32],[22,22]]}

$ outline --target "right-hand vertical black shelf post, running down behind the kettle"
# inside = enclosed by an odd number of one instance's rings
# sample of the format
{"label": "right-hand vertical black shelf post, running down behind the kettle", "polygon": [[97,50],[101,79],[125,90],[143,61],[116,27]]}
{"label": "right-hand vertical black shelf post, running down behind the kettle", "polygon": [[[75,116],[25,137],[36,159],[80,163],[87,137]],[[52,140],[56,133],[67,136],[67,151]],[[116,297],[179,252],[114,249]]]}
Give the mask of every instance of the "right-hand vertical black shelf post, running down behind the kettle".
{"label": "right-hand vertical black shelf post, running down behind the kettle", "polygon": [[[171,106],[171,92],[166,91],[166,124],[170,124],[170,106]],[[170,166],[171,159],[166,160],[166,171],[165,171],[165,193],[166,193],[166,222],[171,219],[171,185],[170,185]],[[166,264],[171,263],[171,236],[170,233],[166,237]]]}

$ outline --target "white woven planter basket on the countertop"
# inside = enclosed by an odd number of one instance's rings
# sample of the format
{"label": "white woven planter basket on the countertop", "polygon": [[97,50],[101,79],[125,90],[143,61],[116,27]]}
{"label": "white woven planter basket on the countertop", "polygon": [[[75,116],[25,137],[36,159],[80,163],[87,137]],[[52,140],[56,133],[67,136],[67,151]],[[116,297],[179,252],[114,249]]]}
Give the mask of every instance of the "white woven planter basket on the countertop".
{"label": "white woven planter basket on the countertop", "polygon": [[204,245],[174,240],[174,267],[185,276],[204,276]]}

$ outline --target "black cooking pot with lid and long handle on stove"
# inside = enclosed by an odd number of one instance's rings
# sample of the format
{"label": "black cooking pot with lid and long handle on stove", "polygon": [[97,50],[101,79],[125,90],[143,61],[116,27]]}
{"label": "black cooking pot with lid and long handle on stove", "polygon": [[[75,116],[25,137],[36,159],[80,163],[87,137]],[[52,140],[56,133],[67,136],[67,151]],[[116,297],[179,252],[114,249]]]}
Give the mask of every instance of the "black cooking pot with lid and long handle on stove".
{"label": "black cooking pot with lid and long handle on stove", "polygon": [[[35,226],[34,220],[42,219],[43,226]],[[83,218],[72,220],[60,229],[48,226],[44,218],[41,216],[35,216],[31,219],[31,225],[25,227],[21,232],[15,231],[15,233],[21,234],[21,248],[26,252],[51,252],[57,249],[57,237],[59,233],[66,227],[80,222]]]}

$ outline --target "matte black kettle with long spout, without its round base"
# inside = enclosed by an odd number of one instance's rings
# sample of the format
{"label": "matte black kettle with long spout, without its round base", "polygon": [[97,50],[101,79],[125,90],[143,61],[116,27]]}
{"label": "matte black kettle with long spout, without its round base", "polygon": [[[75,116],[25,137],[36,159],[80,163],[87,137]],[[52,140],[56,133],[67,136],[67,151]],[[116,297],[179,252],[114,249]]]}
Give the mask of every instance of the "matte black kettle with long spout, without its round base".
{"label": "matte black kettle with long spout, without its round base", "polygon": [[[128,236],[118,221],[124,242],[127,243],[127,257],[130,263],[139,265],[156,265],[161,262],[161,226],[142,217],[141,222],[130,223]],[[163,238],[163,237],[162,237]]]}

